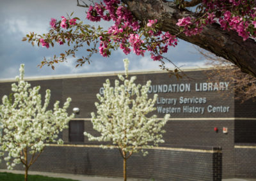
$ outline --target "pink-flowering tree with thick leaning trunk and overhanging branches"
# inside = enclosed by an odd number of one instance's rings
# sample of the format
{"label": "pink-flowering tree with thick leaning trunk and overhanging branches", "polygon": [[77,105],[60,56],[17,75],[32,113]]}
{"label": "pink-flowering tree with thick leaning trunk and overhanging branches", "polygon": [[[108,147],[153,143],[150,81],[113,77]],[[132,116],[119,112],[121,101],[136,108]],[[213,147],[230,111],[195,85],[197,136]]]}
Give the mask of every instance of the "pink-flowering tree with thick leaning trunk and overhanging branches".
{"label": "pink-flowering tree with thick leaning trunk and overhanging branches", "polygon": [[[83,4],[81,4],[83,2]],[[102,27],[83,24],[72,15],[51,19],[47,34],[27,34],[23,40],[49,48],[54,43],[70,43],[73,48],[44,59],[41,65],[52,66],[68,55],[76,56],[79,47],[88,46],[88,55],[77,59],[77,66],[90,62],[93,53],[103,57],[117,48],[124,54],[133,52],[143,56],[150,52],[162,69],[164,57],[170,47],[177,45],[177,38],[189,41],[205,50],[233,62],[242,71],[256,76],[256,2],[248,0],[102,0],[77,5],[87,8],[86,18],[92,22],[113,21],[104,31]],[[191,9],[189,9],[191,8]],[[171,61],[170,61],[171,62]],[[177,73],[176,68],[174,73]],[[170,69],[168,69],[170,71]]]}

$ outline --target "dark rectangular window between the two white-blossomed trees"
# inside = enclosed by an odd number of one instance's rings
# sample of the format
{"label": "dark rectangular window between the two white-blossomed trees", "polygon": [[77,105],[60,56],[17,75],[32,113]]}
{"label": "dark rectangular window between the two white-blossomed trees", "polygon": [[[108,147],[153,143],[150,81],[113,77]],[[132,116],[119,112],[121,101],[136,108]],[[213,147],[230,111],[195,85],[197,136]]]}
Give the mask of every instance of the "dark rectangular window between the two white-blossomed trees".
{"label": "dark rectangular window between the two white-blossomed trees", "polygon": [[70,120],[68,141],[84,142],[84,120]]}

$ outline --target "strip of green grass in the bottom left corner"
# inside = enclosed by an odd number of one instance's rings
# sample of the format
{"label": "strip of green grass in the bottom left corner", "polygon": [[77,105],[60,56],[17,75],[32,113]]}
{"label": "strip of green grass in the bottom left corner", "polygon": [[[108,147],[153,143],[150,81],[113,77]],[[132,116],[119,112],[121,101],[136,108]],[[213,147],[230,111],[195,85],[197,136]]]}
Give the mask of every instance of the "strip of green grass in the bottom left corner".
{"label": "strip of green grass in the bottom left corner", "polygon": [[[0,180],[1,181],[23,181],[24,175],[1,172]],[[77,180],[66,179],[66,178],[45,177],[41,175],[28,175],[28,181],[77,181]]]}

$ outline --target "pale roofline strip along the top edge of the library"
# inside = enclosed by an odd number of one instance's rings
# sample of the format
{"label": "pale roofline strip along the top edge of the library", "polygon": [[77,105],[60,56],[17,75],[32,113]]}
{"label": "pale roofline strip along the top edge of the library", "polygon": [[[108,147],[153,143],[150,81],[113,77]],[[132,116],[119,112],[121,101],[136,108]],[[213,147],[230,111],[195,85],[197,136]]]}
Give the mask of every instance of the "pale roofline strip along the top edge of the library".
{"label": "pale roofline strip along the top edge of the library", "polygon": [[[202,71],[212,69],[211,66],[204,66],[203,68],[198,67],[187,67],[180,68],[182,71]],[[130,70],[130,75],[140,75],[140,74],[152,74],[152,73],[167,73],[167,71],[159,69],[144,69],[144,70]],[[65,75],[49,75],[49,76],[28,76],[24,77],[26,81],[33,80],[55,80],[63,78],[84,78],[84,77],[93,77],[93,76],[115,76],[118,74],[125,74],[125,71],[105,71],[105,72],[95,72],[95,73],[77,73],[77,74],[65,74]],[[3,78],[0,79],[0,83],[3,82],[16,82],[15,78]]]}

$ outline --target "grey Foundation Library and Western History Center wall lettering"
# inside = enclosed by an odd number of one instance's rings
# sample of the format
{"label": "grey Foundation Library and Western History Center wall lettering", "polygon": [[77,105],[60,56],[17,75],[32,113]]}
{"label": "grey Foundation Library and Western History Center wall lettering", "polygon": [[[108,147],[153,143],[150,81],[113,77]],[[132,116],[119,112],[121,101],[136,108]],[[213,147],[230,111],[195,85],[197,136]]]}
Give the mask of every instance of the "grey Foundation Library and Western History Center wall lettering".
{"label": "grey Foundation Library and Western History Center wall lettering", "polygon": [[[193,84],[193,85],[191,85]],[[156,109],[159,114],[201,114],[204,113],[228,113],[228,105],[212,105],[207,100],[207,94],[202,92],[228,91],[229,82],[201,82],[201,83],[172,83],[150,85],[148,94],[158,94]],[[104,88],[99,90],[104,94]],[[195,92],[200,96],[184,96],[184,93]],[[179,94],[177,94],[179,93]],[[204,95],[204,96],[202,96]]]}

